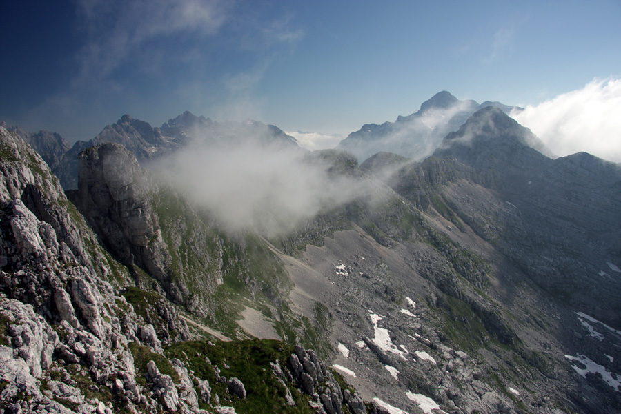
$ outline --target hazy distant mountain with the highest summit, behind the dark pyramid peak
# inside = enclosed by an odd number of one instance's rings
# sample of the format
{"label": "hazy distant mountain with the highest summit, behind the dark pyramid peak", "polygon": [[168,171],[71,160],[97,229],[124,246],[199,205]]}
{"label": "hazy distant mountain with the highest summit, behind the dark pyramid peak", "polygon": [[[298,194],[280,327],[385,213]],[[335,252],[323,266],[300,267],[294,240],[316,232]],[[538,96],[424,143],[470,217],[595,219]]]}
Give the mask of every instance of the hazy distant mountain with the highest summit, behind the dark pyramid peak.
{"label": "hazy distant mountain with the highest summit, behind the dark pyramid peak", "polygon": [[366,124],[348,135],[337,148],[352,152],[360,162],[380,151],[422,161],[440,146],[446,134],[457,130],[476,110],[488,106],[506,113],[514,109],[499,102],[486,101],[479,105],[471,100],[460,101],[449,92],[438,92],[412,115],[382,125]]}

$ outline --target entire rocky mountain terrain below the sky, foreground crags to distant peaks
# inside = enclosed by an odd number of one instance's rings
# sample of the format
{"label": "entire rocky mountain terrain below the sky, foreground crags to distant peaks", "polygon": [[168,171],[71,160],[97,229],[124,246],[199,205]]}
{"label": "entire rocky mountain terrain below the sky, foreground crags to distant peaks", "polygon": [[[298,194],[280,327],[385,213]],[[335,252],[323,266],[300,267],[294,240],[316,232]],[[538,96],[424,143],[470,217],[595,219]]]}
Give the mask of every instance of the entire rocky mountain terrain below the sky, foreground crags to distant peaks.
{"label": "entire rocky mountain terrain below the sky, foreground crags to distant peaks", "polygon": [[0,126],[0,408],[617,413],[621,166],[511,110]]}

